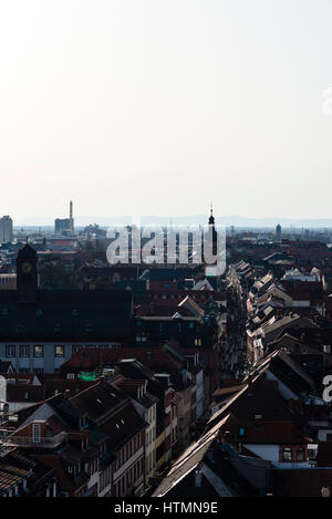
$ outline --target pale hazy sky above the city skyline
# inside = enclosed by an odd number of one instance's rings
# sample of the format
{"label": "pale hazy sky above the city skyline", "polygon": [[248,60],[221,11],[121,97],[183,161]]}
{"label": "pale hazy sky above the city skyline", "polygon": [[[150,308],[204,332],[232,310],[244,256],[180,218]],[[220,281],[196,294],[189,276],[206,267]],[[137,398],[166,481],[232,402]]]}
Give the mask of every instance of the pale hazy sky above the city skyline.
{"label": "pale hazy sky above the city skyline", "polygon": [[0,212],[331,217],[331,0],[1,0]]}

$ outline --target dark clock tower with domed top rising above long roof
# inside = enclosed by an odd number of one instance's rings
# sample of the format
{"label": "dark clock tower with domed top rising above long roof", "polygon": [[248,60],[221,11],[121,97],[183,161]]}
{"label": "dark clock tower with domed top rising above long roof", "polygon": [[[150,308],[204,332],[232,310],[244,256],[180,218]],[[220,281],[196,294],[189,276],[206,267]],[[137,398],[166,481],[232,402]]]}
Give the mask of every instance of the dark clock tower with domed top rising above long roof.
{"label": "dark clock tower with domed top rising above long roof", "polygon": [[20,302],[37,301],[37,251],[27,242],[17,257],[17,292]]}

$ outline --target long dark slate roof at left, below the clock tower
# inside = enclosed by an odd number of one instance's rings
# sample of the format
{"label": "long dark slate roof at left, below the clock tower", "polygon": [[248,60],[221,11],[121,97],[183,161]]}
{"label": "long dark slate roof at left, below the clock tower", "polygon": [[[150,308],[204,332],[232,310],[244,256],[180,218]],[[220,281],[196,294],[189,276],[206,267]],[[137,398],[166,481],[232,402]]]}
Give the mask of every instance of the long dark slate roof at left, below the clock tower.
{"label": "long dark slate roof at left, below the clock tower", "polygon": [[0,291],[0,340],[98,340],[131,332],[132,292],[127,290],[39,290],[38,301]]}

